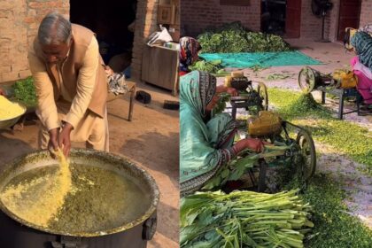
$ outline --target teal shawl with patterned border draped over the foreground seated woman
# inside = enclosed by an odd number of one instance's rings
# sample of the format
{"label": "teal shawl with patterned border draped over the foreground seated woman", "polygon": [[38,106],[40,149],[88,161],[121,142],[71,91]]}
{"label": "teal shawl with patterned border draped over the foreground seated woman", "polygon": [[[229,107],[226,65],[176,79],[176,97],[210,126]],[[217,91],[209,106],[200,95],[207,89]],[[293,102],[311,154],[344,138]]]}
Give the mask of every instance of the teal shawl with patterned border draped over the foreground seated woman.
{"label": "teal shawl with patterned border draped over the foreground seated woman", "polygon": [[[180,182],[182,192],[198,190],[213,174],[231,159],[231,149],[216,149],[210,130],[220,129],[205,125],[205,106],[215,94],[213,76],[192,72],[180,82]],[[208,122],[213,123],[213,122]],[[221,125],[221,122],[216,121]]]}

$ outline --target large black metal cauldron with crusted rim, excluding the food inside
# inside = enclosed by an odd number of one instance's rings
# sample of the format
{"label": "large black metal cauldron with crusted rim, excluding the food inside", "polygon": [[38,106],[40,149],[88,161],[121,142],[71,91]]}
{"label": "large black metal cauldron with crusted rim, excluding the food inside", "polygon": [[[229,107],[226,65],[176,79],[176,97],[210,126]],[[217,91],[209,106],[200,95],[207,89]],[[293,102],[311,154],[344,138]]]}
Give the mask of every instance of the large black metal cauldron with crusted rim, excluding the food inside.
{"label": "large black metal cauldron with crusted rim, excluding the food inside", "polygon": [[[122,223],[119,227],[95,232],[55,231],[20,219],[7,209],[0,200],[0,247],[6,248],[144,248],[156,230],[156,209],[159,202],[159,189],[150,174],[137,167],[128,159],[110,153],[93,150],[73,149],[70,160],[76,164],[100,167],[123,174],[136,181],[144,192],[150,194],[150,203],[141,216],[134,221]],[[28,154],[4,167],[0,174],[0,192],[13,177],[27,173],[38,167],[55,165],[49,151]],[[135,206],[136,207],[136,206]]]}

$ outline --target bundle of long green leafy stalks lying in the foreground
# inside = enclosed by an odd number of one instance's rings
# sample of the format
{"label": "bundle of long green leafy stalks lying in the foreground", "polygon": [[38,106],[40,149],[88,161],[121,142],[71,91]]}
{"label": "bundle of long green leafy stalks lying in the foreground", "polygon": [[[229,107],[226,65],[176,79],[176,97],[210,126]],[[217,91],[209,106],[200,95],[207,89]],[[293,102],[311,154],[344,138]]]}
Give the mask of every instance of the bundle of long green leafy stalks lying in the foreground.
{"label": "bundle of long green leafy stalks lying in the foreground", "polygon": [[304,247],[314,227],[298,190],[197,193],[181,201],[181,247]]}

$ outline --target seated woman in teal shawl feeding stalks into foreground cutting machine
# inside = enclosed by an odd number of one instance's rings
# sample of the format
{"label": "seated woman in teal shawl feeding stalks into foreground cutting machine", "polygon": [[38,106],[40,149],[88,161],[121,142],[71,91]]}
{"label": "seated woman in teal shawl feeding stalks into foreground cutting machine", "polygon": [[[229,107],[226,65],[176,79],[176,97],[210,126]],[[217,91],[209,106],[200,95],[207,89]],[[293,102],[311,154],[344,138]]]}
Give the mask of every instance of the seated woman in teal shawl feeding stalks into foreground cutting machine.
{"label": "seated woman in teal shawl feeding stalks into foreground cutting machine", "polygon": [[208,112],[218,102],[218,93],[236,91],[216,87],[210,74],[194,71],[182,76],[180,83],[180,183],[182,196],[200,190],[221,167],[250,148],[262,151],[259,139],[243,139],[233,145],[236,121],[228,113],[208,120]]}

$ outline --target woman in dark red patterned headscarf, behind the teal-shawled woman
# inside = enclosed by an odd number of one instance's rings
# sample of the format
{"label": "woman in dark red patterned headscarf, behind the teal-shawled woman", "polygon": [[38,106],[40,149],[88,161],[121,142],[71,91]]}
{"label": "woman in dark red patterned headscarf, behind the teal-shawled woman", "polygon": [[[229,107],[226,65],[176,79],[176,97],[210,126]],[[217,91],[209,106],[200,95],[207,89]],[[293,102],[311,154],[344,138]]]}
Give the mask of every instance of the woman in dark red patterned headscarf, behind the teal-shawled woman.
{"label": "woman in dark red patterned headscarf, behind the teal-shawled woman", "polygon": [[201,46],[192,37],[182,37],[180,39],[180,72],[179,75],[190,73],[189,66],[198,60],[198,51]]}

